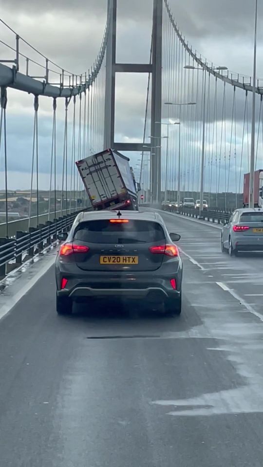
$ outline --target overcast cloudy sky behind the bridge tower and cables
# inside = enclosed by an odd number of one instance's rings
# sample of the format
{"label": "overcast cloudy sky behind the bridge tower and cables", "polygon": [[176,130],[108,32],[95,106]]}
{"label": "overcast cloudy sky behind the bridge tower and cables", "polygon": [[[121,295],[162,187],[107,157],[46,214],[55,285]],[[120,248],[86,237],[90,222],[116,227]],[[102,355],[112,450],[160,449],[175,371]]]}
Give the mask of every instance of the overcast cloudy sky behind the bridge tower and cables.
{"label": "overcast cloudy sky behind the bridge tower and cables", "polygon": [[[261,3],[261,2],[260,2]],[[215,64],[244,75],[252,73],[254,0],[170,0],[171,10],[189,44]],[[1,18],[45,56],[72,73],[87,71],[101,44],[107,0],[0,0]],[[118,0],[117,61],[149,62],[152,0]],[[263,78],[263,5],[259,5],[257,76]],[[1,39],[15,46],[14,36],[0,25]],[[29,53],[24,48],[25,55]],[[35,55],[30,52],[30,56]],[[10,58],[0,46],[0,58]],[[22,64],[21,64],[22,66]],[[32,70],[33,71],[33,70]],[[263,81],[262,81],[263,83]],[[142,139],[147,76],[118,76],[116,138]],[[32,153],[33,97],[8,93],[8,166],[10,188],[29,186]],[[243,96],[238,114],[243,118]],[[61,104],[61,108],[63,105]],[[41,101],[40,162],[42,187],[47,187],[52,102]],[[45,133],[46,131],[46,133]],[[58,131],[62,134],[58,122]],[[241,130],[242,131],[242,125]],[[262,148],[261,148],[262,149]],[[39,157],[40,157],[39,156]],[[0,155],[0,168],[3,155]],[[134,164],[134,155],[132,162]],[[23,177],[19,176],[23,172]],[[2,178],[2,173],[0,172]],[[2,179],[0,188],[3,187]]]}

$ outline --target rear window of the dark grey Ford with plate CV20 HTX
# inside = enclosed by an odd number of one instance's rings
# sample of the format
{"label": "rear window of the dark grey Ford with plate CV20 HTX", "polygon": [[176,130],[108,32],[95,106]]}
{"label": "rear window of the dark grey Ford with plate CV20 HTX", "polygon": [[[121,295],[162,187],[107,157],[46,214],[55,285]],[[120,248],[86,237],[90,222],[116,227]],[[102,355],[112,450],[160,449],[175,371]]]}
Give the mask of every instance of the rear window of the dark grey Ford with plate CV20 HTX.
{"label": "rear window of the dark grey Ford with plate CV20 HTX", "polygon": [[74,240],[90,243],[156,243],[165,240],[162,226],[156,222],[129,220],[112,224],[109,219],[77,225]]}

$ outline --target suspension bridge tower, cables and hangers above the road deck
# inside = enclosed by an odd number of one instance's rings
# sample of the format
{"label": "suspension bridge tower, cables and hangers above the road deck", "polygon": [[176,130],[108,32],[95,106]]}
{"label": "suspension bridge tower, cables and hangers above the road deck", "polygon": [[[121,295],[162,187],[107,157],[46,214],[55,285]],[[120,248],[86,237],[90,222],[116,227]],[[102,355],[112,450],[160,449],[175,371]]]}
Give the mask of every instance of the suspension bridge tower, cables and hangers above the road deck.
{"label": "suspension bridge tower, cables and hangers above the road deck", "polygon": [[[9,43],[1,41],[0,60],[2,237],[14,235],[8,213],[16,211],[8,201],[14,199],[8,165],[19,153],[19,138],[11,145],[7,137],[12,118],[8,104],[16,98],[12,90],[32,96],[32,144],[23,148],[32,153],[26,196],[29,203],[23,216],[28,217],[28,228],[36,227],[41,219],[50,221],[58,214],[88,206],[75,161],[108,147],[132,151],[133,155],[139,151],[136,176],[148,203],[171,197],[180,200],[184,194],[194,197],[193,193],[202,201],[205,192],[209,204],[213,194],[214,207],[226,210],[227,193],[232,192],[235,202],[231,207],[240,207],[244,173],[250,170],[252,78],[198,54],[180,31],[165,0],[154,2],[149,63],[116,63],[116,18],[117,3],[109,2],[98,55],[81,75],[61,68],[1,21],[1,28],[8,30],[10,37]],[[149,76],[144,129],[138,142],[115,141],[118,73]],[[259,80],[255,93],[255,169],[260,169],[263,86]],[[52,122],[51,130],[44,122],[41,127],[41,106]],[[44,150],[39,149],[39,132],[46,139]],[[39,192],[41,159],[50,164],[49,187],[44,194]],[[218,206],[222,193],[225,206]],[[39,197],[46,203],[41,204]]]}

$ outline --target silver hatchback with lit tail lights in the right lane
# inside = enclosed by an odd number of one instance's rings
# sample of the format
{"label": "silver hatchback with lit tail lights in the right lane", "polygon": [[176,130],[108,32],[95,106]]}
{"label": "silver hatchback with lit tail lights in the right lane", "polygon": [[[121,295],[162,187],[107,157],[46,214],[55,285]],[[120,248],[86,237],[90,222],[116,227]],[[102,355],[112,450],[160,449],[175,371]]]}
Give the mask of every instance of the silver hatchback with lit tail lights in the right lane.
{"label": "silver hatchback with lit tail lights in the right lane", "polygon": [[221,250],[230,256],[239,251],[263,251],[263,209],[236,209],[222,227]]}

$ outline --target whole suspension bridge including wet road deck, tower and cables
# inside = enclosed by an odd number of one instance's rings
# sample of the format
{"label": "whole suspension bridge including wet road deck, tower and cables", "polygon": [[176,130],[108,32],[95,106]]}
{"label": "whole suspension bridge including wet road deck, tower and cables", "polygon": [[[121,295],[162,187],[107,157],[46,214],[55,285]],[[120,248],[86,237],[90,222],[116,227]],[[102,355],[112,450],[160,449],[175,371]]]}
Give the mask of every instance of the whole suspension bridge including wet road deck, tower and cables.
{"label": "whole suspension bridge including wet road deck, tower and cables", "polygon": [[[208,60],[169,0],[152,3],[149,59],[117,61],[108,0],[81,74],[0,19],[0,466],[262,466],[262,258],[224,256],[220,237],[244,174],[251,197],[263,168],[263,81]],[[118,140],[118,74],[147,78],[137,139]],[[27,146],[12,113],[25,95]],[[91,208],[75,162],[107,148],[131,158],[140,209],[182,237],[176,322],[134,308],[131,319],[107,307],[55,316],[57,236]],[[184,197],[200,212],[207,200],[205,219],[161,211]]]}

